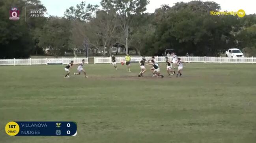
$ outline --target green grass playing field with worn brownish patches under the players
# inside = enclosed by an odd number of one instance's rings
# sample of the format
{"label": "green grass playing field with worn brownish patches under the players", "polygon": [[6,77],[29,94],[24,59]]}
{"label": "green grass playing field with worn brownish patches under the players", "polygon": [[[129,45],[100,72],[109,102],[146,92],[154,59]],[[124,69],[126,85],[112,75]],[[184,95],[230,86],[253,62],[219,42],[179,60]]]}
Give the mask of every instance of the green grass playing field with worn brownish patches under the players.
{"label": "green grass playing field with worn brownish patches under the players", "polygon": [[[63,65],[1,66],[0,143],[256,142],[256,64],[187,64],[163,79],[131,68],[90,64],[88,79],[65,79]],[[76,121],[78,132],[11,137],[9,121]]]}

